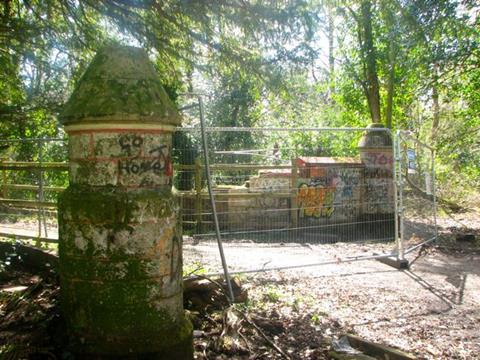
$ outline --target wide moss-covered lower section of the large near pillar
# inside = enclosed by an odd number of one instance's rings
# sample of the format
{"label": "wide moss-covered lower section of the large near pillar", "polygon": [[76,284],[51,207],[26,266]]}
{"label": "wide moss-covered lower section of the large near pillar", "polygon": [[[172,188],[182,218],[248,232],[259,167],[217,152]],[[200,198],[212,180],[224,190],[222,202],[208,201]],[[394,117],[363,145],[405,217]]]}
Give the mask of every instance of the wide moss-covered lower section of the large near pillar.
{"label": "wide moss-covered lower section of the large near pillar", "polygon": [[[182,313],[181,260],[172,269],[166,255],[144,258],[131,252],[131,244],[115,250],[109,246],[122,231],[129,232],[129,242],[136,241],[144,228],[153,231],[153,238],[140,235],[137,240],[145,241],[147,249],[169,244],[180,231],[171,220],[177,211],[177,198],[166,189],[127,191],[77,184],[62,193],[61,307],[71,338],[83,339],[74,346],[76,352],[112,358],[192,358],[192,327]],[[145,214],[158,223],[142,223]]]}

